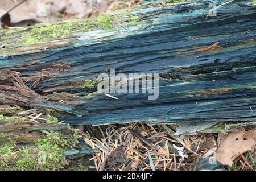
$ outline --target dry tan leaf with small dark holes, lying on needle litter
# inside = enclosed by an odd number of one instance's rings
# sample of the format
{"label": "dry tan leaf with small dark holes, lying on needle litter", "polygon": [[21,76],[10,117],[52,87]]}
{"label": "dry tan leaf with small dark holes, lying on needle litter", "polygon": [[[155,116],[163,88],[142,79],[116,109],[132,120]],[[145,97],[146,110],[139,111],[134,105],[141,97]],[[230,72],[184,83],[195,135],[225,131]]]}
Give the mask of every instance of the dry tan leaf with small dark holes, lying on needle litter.
{"label": "dry tan leaf with small dark holes, lying on needle litter", "polygon": [[243,152],[254,150],[256,130],[240,129],[228,134],[220,134],[220,145],[216,152],[218,162],[232,166],[233,160]]}

